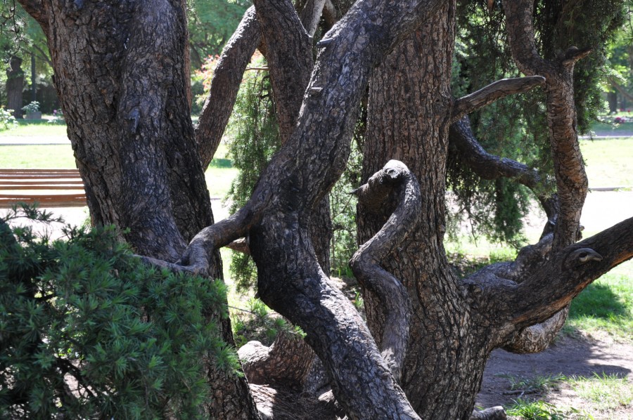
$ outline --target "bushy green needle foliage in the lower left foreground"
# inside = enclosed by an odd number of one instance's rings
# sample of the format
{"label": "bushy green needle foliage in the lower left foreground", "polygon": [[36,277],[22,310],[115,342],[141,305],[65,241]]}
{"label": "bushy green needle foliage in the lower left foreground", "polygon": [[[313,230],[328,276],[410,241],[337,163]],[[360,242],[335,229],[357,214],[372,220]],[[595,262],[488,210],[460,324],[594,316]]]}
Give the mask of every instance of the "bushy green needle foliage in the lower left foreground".
{"label": "bushy green needle foliage in the lower left foreground", "polygon": [[203,417],[205,363],[238,369],[224,284],[143,265],[114,228],[52,241],[20,215],[0,220],[0,418]]}

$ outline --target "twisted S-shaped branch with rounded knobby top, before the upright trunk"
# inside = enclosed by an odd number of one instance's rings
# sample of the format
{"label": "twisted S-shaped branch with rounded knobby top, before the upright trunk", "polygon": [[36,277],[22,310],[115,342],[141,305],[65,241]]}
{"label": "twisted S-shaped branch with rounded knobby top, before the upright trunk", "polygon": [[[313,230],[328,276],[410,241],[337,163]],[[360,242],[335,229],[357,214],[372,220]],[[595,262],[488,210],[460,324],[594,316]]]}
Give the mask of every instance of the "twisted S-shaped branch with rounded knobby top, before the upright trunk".
{"label": "twisted S-shaped branch with rounded knobby top, before the upright trunk", "polygon": [[384,197],[385,187],[395,190],[399,204],[383,228],[356,251],[350,265],[357,280],[381,299],[385,309],[382,354],[393,376],[399,381],[409,342],[411,301],[404,284],[379,264],[409,233],[418,228],[422,199],[414,174],[402,162],[395,160],[371,176],[356,193],[359,201],[371,197],[376,190]]}

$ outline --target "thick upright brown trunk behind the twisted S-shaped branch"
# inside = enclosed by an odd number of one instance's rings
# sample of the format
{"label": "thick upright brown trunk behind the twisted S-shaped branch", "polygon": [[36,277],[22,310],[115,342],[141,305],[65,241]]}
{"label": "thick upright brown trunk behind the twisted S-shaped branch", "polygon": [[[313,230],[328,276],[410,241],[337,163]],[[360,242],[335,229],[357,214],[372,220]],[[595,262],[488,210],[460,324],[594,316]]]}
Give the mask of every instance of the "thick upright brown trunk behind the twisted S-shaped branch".
{"label": "thick upright brown trunk behind the twisted S-shaped branch", "polygon": [[[404,282],[411,298],[401,385],[423,419],[467,419],[487,359],[485,334],[473,329],[442,245],[453,44],[454,3],[449,2],[374,72],[364,143],[364,179],[389,159],[399,159],[420,181],[421,228],[383,267]],[[381,228],[388,214],[389,208],[372,213],[361,200],[359,242]],[[383,306],[368,290],[364,298],[369,327],[380,340]]]}

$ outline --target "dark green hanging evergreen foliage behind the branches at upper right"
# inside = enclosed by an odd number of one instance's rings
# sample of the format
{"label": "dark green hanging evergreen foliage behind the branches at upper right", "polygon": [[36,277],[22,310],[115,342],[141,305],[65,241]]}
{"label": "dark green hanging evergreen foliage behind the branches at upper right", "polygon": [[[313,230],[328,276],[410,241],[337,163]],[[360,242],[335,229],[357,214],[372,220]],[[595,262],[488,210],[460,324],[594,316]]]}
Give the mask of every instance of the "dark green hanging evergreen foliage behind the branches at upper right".
{"label": "dark green hanging evergreen foliage behind the branches at upper right", "polygon": [[[563,4],[564,3],[564,4]],[[570,46],[593,48],[589,57],[575,67],[575,102],[579,131],[589,129],[601,110],[601,78],[604,74],[604,45],[622,24],[624,3],[613,0],[537,1],[535,28],[539,53],[553,60]],[[587,13],[591,10],[592,13]],[[595,14],[593,11],[596,11]],[[582,13],[581,13],[582,12]],[[504,11],[495,2],[460,1],[458,37],[453,65],[455,96],[476,91],[504,77],[518,77],[507,44]],[[544,91],[504,98],[471,114],[473,132],[485,149],[501,157],[538,168],[545,178],[554,171],[551,164]],[[482,180],[449,157],[448,185],[456,202],[468,216],[473,233],[514,246],[523,243],[522,218],[533,195],[511,180]],[[546,184],[542,192],[547,193]],[[554,191],[549,191],[554,192]],[[449,215],[459,218],[459,215]],[[449,225],[456,225],[451,223]]]}

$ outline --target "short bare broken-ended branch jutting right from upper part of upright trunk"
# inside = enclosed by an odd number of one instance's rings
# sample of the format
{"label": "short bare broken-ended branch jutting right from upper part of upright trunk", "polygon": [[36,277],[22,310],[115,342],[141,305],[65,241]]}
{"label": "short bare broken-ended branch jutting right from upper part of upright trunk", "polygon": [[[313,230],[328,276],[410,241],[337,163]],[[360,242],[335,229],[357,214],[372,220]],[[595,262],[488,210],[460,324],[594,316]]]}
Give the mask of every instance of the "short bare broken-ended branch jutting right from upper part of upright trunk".
{"label": "short bare broken-ended branch jutting right from upper part of upright trunk", "polygon": [[543,84],[545,84],[545,78],[542,76],[515,77],[494,81],[488,86],[456,100],[453,106],[451,122],[459,121],[464,115],[490,105],[495,100],[515,93],[527,92]]}

